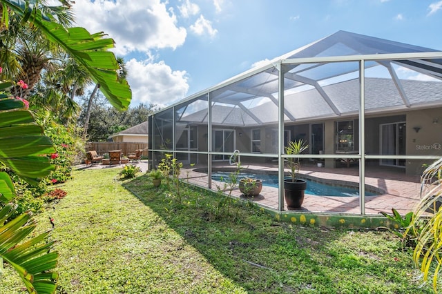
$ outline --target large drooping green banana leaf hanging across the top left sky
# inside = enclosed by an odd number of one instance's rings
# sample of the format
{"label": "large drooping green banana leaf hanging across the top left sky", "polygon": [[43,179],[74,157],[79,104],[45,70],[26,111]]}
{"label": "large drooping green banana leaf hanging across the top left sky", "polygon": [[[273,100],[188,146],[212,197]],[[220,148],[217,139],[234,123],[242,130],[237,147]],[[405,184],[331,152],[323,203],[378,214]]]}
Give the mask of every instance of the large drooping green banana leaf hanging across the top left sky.
{"label": "large drooping green banana leaf hanging across the top left sky", "polygon": [[[93,77],[95,83],[108,101],[119,110],[127,110],[132,99],[131,88],[127,81],[117,77],[118,63],[113,52],[114,41],[104,38],[103,32],[91,35],[84,28],[64,28],[55,21],[50,21],[31,1],[0,0],[4,6],[23,17],[24,21],[32,23],[52,42],[63,47],[74,57]],[[6,9],[3,9],[5,12]]]}

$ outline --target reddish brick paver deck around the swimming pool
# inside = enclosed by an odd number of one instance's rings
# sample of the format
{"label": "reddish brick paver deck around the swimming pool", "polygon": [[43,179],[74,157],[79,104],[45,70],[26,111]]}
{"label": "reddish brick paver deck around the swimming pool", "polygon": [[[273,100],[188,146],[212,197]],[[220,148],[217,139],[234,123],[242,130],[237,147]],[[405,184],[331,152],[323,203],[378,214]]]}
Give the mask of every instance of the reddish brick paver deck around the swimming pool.
{"label": "reddish brick paver deck around the swimming pool", "polygon": [[[216,165],[213,168],[232,168],[232,166]],[[277,166],[247,166],[250,170],[261,172],[278,171]],[[359,170],[354,168],[318,168],[317,166],[302,166],[301,174],[320,179],[359,182]],[[189,183],[207,187],[207,175],[193,168],[183,168],[180,177],[188,179]],[[421,183],[419,176],[407,176],[405,173],[383,170],[381,168],[366,168],[365,184],[378,187],[384,194],[365,197],[365,214],[378,215],[379,212],[391,213],[392,208],[401,215],[412,211],[420,200]],[[212,181],[212,190],[218,190],[219,182]],[[243,197],[238,188],[232,190],[235,197]],[[278,209],[278,188],[262,186],[260,195],[253,197],[253,202],[262,206]],[[285,210],[287,206],[285,206]],[[289,211],[310,211],[314,213],[351,213],[360,214],[359,197],[334,197],[305,194],[302,207]]]}

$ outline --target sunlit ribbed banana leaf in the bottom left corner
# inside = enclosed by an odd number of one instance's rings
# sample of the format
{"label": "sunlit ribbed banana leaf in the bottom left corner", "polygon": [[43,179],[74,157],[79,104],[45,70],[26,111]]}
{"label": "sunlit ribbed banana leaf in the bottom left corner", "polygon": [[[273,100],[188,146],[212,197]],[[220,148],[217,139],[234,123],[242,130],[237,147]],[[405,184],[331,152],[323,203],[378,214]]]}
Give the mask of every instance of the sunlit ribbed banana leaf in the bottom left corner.
{"label": "sunlit ribbed banana leaf in the bottom left corner", "polygon": [[[0,222],[15,212],[15,204],[0,210]],[[50,252],[54,242],[47,242],[49,232],[23,241],[36,223],[26,212],[0,227],[0,257],[8,262],[23,280],[29,293],[54,293],[58,274],[52,270],[57,265],[58,253]]]}

